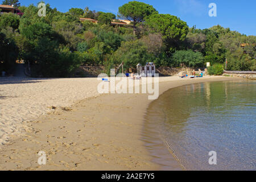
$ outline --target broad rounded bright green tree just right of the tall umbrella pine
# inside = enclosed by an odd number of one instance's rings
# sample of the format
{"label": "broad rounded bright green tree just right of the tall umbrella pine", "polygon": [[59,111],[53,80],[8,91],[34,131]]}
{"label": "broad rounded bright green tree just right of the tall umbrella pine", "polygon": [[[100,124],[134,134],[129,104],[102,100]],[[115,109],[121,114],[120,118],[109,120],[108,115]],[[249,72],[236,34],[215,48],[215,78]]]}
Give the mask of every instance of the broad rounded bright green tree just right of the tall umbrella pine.
{"label": "broad rounded bright green tree just right of the tall umbrella pine", "polygon": [[187,23],[170,14],[152,15],[146,19],[146,24],[151,32],[162,34],[168,51],[174,51],[188,34]]}

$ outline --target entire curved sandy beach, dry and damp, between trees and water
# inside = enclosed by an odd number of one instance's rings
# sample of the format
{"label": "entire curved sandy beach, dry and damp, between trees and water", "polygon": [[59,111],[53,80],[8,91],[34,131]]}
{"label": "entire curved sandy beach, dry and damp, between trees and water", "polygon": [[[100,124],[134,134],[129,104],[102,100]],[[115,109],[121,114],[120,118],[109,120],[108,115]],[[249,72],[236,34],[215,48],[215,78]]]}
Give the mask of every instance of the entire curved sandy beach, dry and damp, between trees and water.
{"label": "entire curved sandy beach, dry and damp, between trees and water", "polygon": [[[160,77],[159,94],[238,79]],[[0,169],[182,170],[171,155],[170,166],[163,167],[147,150],[147,94],[99,94],[99,83],[96,78],[0,78]],[[39,151],[46,152],[46,165],[38,164]]]}

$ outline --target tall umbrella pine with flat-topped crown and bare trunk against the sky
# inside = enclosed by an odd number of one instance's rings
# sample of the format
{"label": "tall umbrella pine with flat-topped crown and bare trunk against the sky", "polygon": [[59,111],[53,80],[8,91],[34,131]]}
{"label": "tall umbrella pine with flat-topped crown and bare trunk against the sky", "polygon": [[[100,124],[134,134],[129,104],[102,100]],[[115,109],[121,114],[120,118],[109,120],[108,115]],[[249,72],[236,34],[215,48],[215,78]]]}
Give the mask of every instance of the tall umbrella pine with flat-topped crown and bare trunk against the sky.
{"label": "tall umbrella pine with flat-topped crown and bare trunk against the sky", "polygon": [[143,2],[131,1],[119,7],[118,16],[123,19],[130,20],[133,23],[134,34],[137,31],[137,24],[144,22],[144,20],[158,11],[153,6],[147,5]]}

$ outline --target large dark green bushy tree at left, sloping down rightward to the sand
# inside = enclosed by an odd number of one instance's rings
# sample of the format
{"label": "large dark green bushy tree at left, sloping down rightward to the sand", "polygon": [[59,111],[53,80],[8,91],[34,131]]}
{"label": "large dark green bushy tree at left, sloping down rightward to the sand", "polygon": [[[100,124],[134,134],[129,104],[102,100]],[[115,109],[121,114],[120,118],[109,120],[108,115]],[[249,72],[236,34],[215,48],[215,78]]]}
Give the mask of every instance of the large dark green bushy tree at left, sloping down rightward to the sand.
{"label": "large dark green bushy tree at left, sloping down rightward to the sand", "polygon": [[33,76],[68,77],[81,64],[79,54],[60,44],[49,24],[36,22],[22,28],[20,33],[26,49],[22,56],[32,63]]}

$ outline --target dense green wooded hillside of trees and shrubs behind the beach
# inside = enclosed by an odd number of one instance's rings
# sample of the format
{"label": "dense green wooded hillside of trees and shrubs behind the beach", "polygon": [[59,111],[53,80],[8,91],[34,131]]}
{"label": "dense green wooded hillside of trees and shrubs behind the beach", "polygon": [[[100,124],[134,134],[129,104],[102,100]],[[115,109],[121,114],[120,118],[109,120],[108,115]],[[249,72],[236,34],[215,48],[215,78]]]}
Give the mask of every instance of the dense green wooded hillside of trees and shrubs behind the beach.
{"label": "dense green wooded hillside of trees and shrubs behind the beach", "polygon": [[[149,61],[156,67],[204,67],[228,59],[229,70],[256,70],[256,36],[221,26],[189,28],[146,3],[129,2],[119,7],[118,17],[88,7],[61,13],[47,5],[46,17],[39,17],[34,5],[19,9],[22,17],[0,16],[0,71],[11,72],[17,59],[30,63],[36,77],[72,77],[82,64],[104,65],[108,73],[122,62],[128,69]],[[81,17],[99,23],[80,22]],[[117,18],[131,20],[132,26],[112,26]]]}

